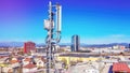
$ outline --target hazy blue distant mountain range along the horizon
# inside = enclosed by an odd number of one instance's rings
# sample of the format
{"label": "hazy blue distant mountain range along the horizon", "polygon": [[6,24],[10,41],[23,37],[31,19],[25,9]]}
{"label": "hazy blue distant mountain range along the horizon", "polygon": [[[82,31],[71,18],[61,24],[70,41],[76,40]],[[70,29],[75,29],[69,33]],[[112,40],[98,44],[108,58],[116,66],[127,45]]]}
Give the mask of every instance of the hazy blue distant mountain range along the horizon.
{"label": "hazy blue distant mountain range along the horizon", "polygon": [[[60,43],[60,46],[70,46],[72,43]],[[129,46],[128,43],[110,43],[110,44],[84,44],[80,43],[81,47],[112,47],[114,45],[123,45],[126,47]],[[0,47],[22,47],[24,46],[24,42],[0,42]],[[36,46],[46,46],[44,43],[36,44]]]}

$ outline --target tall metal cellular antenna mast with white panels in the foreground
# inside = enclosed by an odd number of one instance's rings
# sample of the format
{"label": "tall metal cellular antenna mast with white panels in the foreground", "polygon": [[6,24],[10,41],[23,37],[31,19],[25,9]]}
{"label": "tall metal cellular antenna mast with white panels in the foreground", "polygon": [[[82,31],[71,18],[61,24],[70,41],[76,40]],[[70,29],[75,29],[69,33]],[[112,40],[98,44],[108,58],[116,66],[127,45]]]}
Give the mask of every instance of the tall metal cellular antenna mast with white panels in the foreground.
{"label": "tall metal cellular antenna mast with white panels in the foreground", "polygon": [[52,5],[52,2],[50,1],[49,18],[44,19],[44,29],[48,31],[48,35],[46,38],[47,73],[52,73],[51,70],[54,70],[55,72],[54,53],[55,53],[55,45],[61,40],[61,23],[62,23],[62,6],[57,3]]}

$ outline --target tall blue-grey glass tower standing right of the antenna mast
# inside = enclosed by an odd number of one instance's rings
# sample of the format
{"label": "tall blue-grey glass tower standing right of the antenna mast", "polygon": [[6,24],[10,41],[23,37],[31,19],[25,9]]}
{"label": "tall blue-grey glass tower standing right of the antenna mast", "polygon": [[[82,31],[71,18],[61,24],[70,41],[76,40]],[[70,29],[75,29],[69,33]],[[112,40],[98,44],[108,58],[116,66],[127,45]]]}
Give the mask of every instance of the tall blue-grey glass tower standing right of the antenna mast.
{"label": "tall blue-grey glass tower standing right of the antenna mast", "polygon": [[78,52],[80,47],[79,35],[72,36],[72,52]]}

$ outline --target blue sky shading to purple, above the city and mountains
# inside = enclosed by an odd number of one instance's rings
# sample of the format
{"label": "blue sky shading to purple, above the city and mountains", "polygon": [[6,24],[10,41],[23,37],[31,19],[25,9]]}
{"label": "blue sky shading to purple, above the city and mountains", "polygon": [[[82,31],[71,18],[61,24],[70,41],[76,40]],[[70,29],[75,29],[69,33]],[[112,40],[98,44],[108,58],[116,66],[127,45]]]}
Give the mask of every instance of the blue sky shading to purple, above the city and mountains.
{"label": "blue sky shading to purple, above the city and mountains", "polygon": [[[0,42],[44,43],[49,0],[0,0]],[[63,6],[62,40],[86,44],[130,41],[129,0],[52,0]]]}

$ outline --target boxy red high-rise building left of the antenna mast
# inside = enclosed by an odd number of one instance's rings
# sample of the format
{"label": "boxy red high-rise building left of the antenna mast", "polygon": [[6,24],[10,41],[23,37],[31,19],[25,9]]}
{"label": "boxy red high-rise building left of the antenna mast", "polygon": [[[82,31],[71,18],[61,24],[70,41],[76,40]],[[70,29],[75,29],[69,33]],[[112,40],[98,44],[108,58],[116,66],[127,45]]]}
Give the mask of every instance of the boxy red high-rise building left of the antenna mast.
{"label": "boxy red high-rise building left of the antenna mast", "polygon": [[28,54],[30,52],[36,52],[36,44],[34,42],[24,43],[24,53]]}

